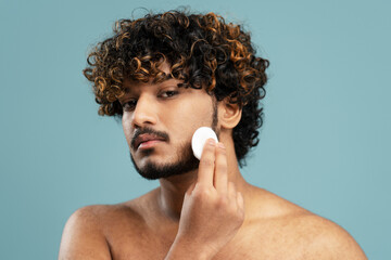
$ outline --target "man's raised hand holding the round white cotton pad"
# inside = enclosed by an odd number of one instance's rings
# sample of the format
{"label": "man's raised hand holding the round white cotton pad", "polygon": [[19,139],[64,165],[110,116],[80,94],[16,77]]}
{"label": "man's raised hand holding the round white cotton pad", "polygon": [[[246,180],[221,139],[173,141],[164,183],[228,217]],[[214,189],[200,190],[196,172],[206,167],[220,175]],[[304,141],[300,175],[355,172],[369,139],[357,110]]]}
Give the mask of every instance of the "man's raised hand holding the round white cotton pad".
{"label": "man's raised hand holding the round white cotton pad", "polygon": [[186,192],[180,213],[176,239],[194,250],[206,250],[210,257],[234,238],[244,221],[243,197],[228,182],[227,170],[223,143],[207,140],[197,182]]}

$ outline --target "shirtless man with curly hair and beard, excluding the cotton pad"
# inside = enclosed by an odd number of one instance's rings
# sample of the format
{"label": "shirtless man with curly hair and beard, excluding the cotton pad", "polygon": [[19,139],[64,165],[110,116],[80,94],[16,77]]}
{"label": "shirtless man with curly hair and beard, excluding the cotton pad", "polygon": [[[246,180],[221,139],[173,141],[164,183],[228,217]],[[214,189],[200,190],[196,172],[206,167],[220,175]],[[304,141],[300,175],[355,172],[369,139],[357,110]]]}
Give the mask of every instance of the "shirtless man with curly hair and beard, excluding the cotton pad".
{"label": "shirtless man with curly hair and beard, excluding the cotton pad", "polygon": [[[122,20],[89,55],[99,114],[122,118],[137,171],[160,187],[78,209],[59,259],[366,259],[348,232],[242,178],[268,61],[213,13]],[[200,161],[191,136],[211,127]]]}

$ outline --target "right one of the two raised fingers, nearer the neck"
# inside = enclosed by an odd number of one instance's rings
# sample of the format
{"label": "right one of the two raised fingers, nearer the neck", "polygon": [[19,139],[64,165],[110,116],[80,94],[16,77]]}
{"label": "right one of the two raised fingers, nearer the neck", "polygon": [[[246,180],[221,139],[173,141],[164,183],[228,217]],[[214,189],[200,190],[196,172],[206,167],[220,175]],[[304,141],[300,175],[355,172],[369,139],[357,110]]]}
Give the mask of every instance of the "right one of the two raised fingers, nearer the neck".
{"label": "right one of the two raised fingers, nearer the neck", "polygon": [[228,172],[227,172],[227,156],[223,143],[216,146],[216,167],[214,172],[214,186],[217,192],[227,194],[228,190]]}

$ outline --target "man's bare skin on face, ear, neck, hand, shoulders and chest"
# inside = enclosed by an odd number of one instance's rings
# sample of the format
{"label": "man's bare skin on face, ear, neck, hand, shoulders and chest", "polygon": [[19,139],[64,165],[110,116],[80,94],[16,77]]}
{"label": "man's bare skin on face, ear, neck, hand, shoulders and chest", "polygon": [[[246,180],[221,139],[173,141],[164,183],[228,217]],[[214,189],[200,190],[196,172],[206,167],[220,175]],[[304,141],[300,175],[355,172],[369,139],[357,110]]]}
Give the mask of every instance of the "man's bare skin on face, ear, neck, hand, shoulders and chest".
{"label": "man's bare skin on face, ear, neck, hand, shoulders and chest", "polygon": [[[140,169],[177,161],[195,129],[212,123],[212,96],[178,90],[177,82],[124,82],[131,91],[121,103],[137,98],[123,129]],[[178,94],[165,92],[173,90]],[[219,143],[204,146],[198,169],[161,178],[160,187],[138,198],[76,210],[59,259],[367,259],[336,223],[248,183],[231,138],[241,110],[226,101],[217,109]],[[169,142],[149,153],[133,147],[135,131],[146,127],[168,133]]]}

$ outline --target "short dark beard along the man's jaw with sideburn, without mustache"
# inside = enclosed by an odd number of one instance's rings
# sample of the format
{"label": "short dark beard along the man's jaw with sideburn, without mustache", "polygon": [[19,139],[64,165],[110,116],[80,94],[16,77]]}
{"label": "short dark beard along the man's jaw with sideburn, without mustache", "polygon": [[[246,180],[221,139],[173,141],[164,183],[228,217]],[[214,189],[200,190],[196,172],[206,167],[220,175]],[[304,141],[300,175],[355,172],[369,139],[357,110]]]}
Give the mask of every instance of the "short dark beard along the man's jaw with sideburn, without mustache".
{"label": "short dark beard along the man's jaw with sideburn, without mustache", "polygon": [[[219,131],[216,131],[217,129],[217,101],[213,98],[213,115],[212,115],[212,126],[211,128],[213,131],[216,132],[217,138],[219,138]],[[166,136],[168,134],[164,133]],[[146,151],[146,153],[152,153],[153,148]],[[194,157],[191,148],[191,141],[181,144],[176,153],[176,161],[164,164],[164,165],[157,165],[155,162],[147,162],[147,165],[142,168],[139,168],[130,155],[130,160],[133,165],[135,166],[135,169],[137,172],[147,180],[157,180],[161,178],[168,178],[172,176],[179,176],[185,174],[189,171],[197,170],[199,167],[199,160]],[[148,156],[148,154],[146,154]]]}

